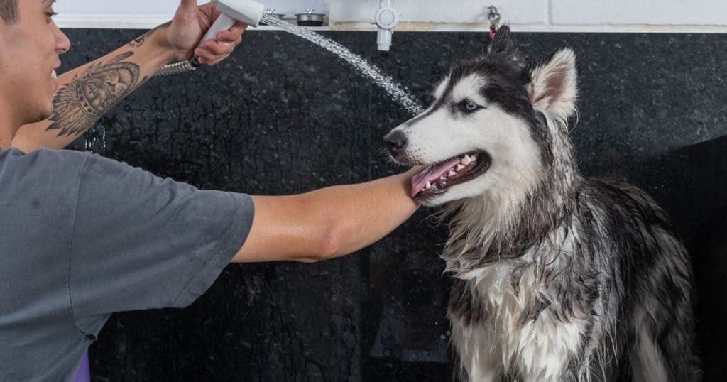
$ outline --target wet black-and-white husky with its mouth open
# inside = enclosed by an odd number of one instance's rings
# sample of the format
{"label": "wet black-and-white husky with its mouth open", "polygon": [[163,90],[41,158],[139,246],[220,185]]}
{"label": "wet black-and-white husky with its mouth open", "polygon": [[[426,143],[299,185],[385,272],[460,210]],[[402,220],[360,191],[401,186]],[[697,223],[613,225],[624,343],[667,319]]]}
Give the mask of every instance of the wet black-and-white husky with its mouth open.
{"label": "wet black-and-white husky with its mouth open", "polygon": [[502,27],[385,141],[428,166],[411,195],[452,215],[442,258],[459,378],[699,381],[692,271],[638,188],[579,175],[574,52],[532,69]]}

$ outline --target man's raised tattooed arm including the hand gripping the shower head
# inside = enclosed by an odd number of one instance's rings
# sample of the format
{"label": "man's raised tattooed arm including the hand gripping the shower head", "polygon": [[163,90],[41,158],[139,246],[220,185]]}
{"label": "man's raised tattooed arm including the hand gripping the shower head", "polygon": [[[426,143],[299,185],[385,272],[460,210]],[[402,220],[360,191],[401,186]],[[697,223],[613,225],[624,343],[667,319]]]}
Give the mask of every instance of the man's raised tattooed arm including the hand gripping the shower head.
{"label": "man's raised tattooed arm including the hand gripping the shower head", "polygon": [[237,23],[217,34],[216,41],[198,41],[220,15],[212,4],[197,6],[182,0],[174,19],[92,63],[59,76],[49,119],[21,127],[13,146],[29,152],[36,148],[64,148],[79,138],[116,103],[134,92],[162,66],[200,57],[215,64],[240,43],[246,25]]}

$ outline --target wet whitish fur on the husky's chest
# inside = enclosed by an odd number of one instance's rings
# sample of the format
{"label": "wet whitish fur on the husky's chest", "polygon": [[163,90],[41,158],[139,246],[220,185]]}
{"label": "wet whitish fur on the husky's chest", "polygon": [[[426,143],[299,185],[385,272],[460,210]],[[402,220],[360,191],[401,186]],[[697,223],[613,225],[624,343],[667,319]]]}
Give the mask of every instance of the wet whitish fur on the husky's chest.
{"label": "wet whitish fur on the husky's chest", "polygon": [[[557,318],[557,301],[547,297],[553,291],[538,274],[537,266],[523,257],[454,282],[449,306],[452,339],[474,375],[478,368],[485,375],[488,367],[499,365],[527,381],[546,381],[577,351],[583,322]],[[487,365],[485,359],[493,363]]]}

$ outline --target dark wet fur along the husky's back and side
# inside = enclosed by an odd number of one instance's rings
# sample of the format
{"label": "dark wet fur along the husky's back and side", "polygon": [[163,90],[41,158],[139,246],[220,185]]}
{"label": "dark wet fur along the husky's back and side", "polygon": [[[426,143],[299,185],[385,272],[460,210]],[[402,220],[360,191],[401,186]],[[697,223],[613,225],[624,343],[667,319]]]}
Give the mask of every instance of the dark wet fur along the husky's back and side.
{"label": "dark wet fur along the husky's back and side", "polygon": [[631,380],[701,380],[691,264],[667,214],[626,183],[588,180],[584,191],[579,220],[588,222],[585,231],[605,234],[589,249],[612,263],[603,287],[618,299],[613,330],[624,338]]}

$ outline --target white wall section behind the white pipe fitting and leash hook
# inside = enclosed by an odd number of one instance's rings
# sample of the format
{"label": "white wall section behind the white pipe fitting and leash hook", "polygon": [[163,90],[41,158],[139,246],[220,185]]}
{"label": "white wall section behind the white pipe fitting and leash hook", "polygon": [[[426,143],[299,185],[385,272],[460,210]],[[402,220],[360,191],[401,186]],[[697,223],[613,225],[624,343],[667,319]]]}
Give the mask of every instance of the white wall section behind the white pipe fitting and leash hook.
{"label": "white wall section behind the white pipe fitting and leash hook", "polygon": [[[331,26],[368,28],[378,4],[329,0]],[[486,23],[489,5],[515,31],[727,33],[726,0],[394,0],[401,28],[412,30],[478,30],[483,28],[478,23]]]}

